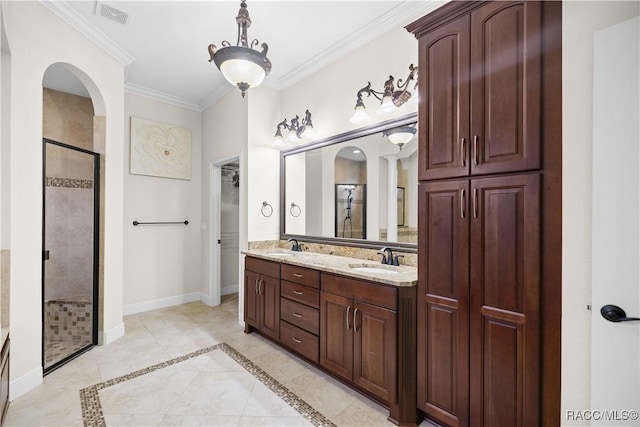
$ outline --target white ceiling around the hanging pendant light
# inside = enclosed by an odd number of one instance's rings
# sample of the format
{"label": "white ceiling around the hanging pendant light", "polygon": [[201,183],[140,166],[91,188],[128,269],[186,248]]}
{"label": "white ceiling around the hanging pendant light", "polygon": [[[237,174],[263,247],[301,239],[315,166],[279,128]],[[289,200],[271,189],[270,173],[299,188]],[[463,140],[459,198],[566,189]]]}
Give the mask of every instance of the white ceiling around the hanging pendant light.
{"label": "white ceiling around the hanging pendant light", "polygon": [[[42,1],[125,66],[128,92],[203,110],[229,90],[207,47],[236,44],[240,1]],[[127,25],[96,14],[104,3]],[[250,40],[269,45],[265,85],[282,90],[382,34],[409,24],[443,1],[248,0]],[[416,44],[417,47],[417,44]],[[69,72],[50,69],[44,85],[85,94]]]}

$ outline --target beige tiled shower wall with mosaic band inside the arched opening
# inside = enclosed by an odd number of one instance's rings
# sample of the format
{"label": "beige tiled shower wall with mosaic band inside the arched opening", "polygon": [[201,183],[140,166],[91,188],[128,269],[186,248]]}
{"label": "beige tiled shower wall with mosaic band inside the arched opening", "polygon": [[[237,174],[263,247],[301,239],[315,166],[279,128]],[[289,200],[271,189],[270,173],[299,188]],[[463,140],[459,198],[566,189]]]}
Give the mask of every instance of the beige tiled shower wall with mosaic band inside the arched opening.
{"label": "beige tiled shower wall with mosaic band inside the arched opening", "polygon": [[[45,88],[43,136],[95,151],[91,99]],[[45,300],[92,300],[93,179],[92,156],[47,145]]]}

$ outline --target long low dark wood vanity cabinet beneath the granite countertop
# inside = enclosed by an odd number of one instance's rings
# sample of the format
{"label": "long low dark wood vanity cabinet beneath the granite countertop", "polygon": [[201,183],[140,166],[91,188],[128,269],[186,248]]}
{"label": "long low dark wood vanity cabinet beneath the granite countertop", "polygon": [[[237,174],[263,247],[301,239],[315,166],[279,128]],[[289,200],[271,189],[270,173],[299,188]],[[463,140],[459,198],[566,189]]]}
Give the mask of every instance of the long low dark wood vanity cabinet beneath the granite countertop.
{"label": "long low dark wood vanity cabinet beneath the granite countertop", "polygon": [[[265,298],[267,287],[275,289],[275,284],[266,284],[276,275],[280,277],[277,304],[273,297]],[[274,314],[265,317],[276,312],[277,336]],[[245,259],[245,332],[255,330],[273,338],[387,405],[389,419],[399,425],[419,421],[415,316],[415,286]]]}

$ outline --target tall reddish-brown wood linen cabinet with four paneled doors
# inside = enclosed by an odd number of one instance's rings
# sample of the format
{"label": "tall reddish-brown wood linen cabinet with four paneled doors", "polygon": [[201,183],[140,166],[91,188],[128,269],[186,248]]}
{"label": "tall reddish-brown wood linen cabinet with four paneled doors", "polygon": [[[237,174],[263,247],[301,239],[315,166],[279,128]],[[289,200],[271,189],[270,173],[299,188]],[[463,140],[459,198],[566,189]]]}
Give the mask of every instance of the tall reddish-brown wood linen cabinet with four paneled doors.
{"label": "tall reddish-brown wood linen cabinet with four paneled doors", "polygon": [[557,425],[560,4],[451,2],[407,29],[420,69],[418,408],[451,426]]}

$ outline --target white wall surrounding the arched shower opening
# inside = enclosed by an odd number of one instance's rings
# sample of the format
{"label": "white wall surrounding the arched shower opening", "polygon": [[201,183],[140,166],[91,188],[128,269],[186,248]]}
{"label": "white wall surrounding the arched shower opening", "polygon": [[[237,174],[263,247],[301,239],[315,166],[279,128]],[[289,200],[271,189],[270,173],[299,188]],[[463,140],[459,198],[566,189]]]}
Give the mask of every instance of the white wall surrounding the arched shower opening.
{"label": "white wall surrounding the arched shower opening", "polygon": [[[105,286],[101,340],[122,326],[124,69],[38,2],[2,2],[11,47],[11,399],[42,382],[42,78],[74,66],[106,116]],[[4,204],[3,204],[4,208]]]}

